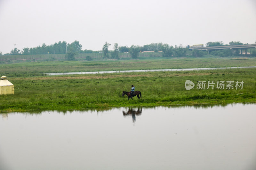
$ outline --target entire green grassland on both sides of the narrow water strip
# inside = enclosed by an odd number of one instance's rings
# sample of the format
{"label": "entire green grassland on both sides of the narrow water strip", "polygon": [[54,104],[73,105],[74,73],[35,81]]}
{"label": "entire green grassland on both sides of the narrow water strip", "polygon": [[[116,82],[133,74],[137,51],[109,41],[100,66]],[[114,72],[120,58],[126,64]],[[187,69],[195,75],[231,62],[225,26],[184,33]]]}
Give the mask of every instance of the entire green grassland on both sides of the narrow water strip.
{"label": "entire green grassland on both sides of the narrow water strip", "polygon": [[[112,62],[34,62],[1,65],[1,75],[15,85],[14,95],[0,96],[0,111],[68,110],[128,106],[227,104],[256,102],[256,69],[135,72],[97,75],[38,76],[45,72],[255,66],[256,59],[165,59]],[[196,65],[197,64],[197,65]],[[195,83],[186,90],[185,81]],[[243,89],[196,89],[198,81],[244,81]],[[142,99],[129,100],[131,85]],[[22,91],[21,91],[22,90]]]}

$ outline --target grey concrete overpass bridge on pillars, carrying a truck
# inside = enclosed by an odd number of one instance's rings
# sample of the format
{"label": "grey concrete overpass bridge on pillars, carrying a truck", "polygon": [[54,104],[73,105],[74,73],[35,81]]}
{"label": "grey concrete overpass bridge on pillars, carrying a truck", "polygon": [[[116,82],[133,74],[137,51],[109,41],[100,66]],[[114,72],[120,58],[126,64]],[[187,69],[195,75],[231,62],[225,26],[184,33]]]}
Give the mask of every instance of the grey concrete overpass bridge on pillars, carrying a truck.
{"label": "grey concrete overpass bridge on pillars, carrying a truck", "polygon": [[199,48],[188,48],[189,50],[206,50],[206,51],[212,51],[212,50],[217,50],[217,49],[240,49],[241,54],[242,50],[245,50],[245,54],[247,54],[247,49],[248,48],[256,48],[256,44],[250,44],[250,45],[229,45],[229,46],[215,46],[215,47],[199,47]]}

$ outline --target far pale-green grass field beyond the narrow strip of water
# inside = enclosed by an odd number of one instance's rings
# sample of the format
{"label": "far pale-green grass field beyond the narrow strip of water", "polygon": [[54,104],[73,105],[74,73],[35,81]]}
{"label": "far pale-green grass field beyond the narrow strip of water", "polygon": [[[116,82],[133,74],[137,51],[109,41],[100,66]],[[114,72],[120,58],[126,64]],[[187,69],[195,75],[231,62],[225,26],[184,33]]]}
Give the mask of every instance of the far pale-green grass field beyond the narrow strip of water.
{"label": "far pale-green grass field beyond the narrow strip of water", "polygon": [[1,75],[8,77],[43,76],[44,73],[215,68],[256,66],[256,58],[170,58],[126,61],[52,61],[0,64]]}

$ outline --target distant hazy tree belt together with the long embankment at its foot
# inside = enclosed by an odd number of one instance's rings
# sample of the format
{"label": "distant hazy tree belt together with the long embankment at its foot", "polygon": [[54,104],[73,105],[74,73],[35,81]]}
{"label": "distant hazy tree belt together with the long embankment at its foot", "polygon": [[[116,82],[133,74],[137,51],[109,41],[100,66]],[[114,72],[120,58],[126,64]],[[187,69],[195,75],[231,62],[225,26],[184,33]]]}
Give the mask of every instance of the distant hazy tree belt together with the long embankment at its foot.
{"label": "distant hazy tree belt together with the long embankment at its foot", "polygon": [[[246,43],[248,44],[248,43]],[[226,45],[246,45],[240,41],[231,41]],[[92,50],[82,50],[82,45],[79,41],[74,41],[71,44],[66,41],[59,41],[51,45],[42,44],[42,46],[28,48],[24,47],[22,51],[20,49],[14,48],[11,53],[6,53],[0,57],[0,62],[10,62],[10,61],[54,61],[54,60],[124,60],[126,58],[137,58],[137,57],[205,57],[205,56],[246,56],[255,57],[256,49],[249,48],[244,49],[221,49],[221,50],[192,50],[189,51],[189,47],[203,47],[203,44],[192,45],[184,47],[182,45],[170,46],[169,44],[163,43],[151,43],[144,46],[132,45],[128,46],[118,46],[118,43],[114,43],[113,50],[109,50],[108,42],[102,47],[100,51]],[[214,46],[225,46],[222,41],[208,42],[205,44],[206,47]],[[151,54],[147,54],[151,53]],[[11,55],[14,56],[11,56]],[[2,53],[0,52],[0,55]],[[22,55],[22,56],[20,56]],[[23,56],[24,55],[24,56]],[[26,56],[29,55],[29,56]],[[43,57],[42,57],[43,56]]]}

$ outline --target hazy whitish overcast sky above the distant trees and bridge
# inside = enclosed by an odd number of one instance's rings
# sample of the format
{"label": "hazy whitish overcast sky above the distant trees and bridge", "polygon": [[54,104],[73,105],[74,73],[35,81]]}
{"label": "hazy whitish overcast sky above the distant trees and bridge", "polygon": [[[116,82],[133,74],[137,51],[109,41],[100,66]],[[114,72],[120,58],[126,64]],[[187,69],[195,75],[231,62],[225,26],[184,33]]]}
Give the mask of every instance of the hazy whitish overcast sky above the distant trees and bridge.
{"label": "hazy whitish overcast sky above the distant trees and bridge", "polygon": [[256,41],[255,0],[0,0],[0,51],[80,41],[82,49]]}

